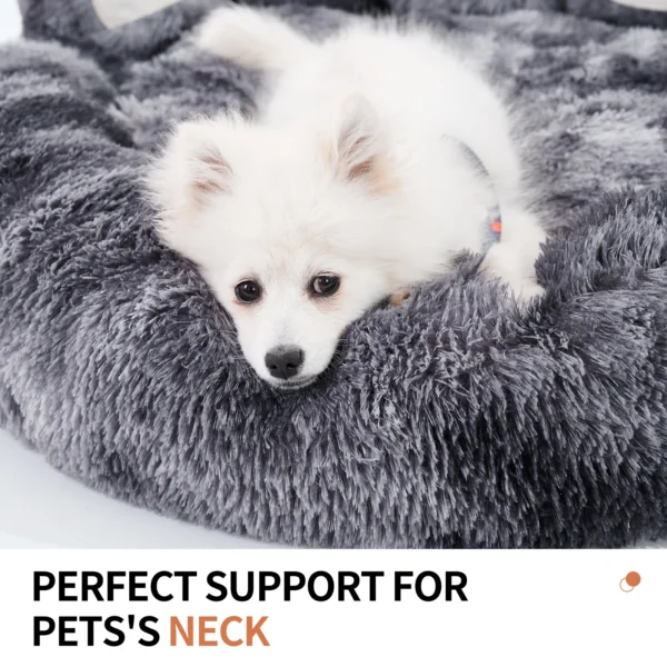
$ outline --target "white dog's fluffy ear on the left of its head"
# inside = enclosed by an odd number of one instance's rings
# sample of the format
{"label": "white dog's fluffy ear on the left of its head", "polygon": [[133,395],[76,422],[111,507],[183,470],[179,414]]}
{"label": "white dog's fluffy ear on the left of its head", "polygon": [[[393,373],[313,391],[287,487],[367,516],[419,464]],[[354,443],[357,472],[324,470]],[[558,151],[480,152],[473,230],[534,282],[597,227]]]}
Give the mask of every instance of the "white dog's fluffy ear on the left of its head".
{"label": "white dog's fluffy ear on the left of its head", "polygon": [[196,233],[199,215],[231,192],[233,171],[225,157],[226,120],[180,123],[153,163],[146,185],[158,211],[158,230],[177,250],[179,238]]}

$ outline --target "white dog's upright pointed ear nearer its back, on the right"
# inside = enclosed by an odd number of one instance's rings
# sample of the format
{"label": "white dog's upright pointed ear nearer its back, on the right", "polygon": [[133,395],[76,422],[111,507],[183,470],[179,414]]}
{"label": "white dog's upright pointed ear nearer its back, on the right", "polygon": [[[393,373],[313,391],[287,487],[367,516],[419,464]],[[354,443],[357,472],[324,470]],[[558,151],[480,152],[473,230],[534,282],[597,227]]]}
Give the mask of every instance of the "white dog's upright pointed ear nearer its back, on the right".
{"label": "white dog's upright pointed ear nearer its back, on the right", "polygon": [[330,158],[339,179],[361,182],[374,190],[388,183],[387,146],[378,116],[360,93],[348,97],[340,109]]}

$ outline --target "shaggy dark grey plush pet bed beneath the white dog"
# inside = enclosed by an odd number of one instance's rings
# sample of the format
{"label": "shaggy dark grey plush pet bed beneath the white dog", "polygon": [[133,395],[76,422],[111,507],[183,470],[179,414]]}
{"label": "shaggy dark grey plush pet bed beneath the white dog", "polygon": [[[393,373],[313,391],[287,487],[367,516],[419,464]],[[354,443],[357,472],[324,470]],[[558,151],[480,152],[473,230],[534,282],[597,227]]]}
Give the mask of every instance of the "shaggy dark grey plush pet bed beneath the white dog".
{"label": "shaggy dark grey plush pet bed beneath the white dog", "polygon": [[[0,51],[0,424],[100,491],[267,540],[667,536],[667,14],[397,0],[524,110],[564,228],[538,262],[547,295],[519,313],[468,257],[351,326],[317,385],[280,394],[243,362],[195,268],[160,246],[138,187],[170,122],[252,109],[258,74],[188,39],[213,4],[107,30],[87,0],[23,1],[30,37],[81,52]],[[346,20],[280,11],[313,34]]]}

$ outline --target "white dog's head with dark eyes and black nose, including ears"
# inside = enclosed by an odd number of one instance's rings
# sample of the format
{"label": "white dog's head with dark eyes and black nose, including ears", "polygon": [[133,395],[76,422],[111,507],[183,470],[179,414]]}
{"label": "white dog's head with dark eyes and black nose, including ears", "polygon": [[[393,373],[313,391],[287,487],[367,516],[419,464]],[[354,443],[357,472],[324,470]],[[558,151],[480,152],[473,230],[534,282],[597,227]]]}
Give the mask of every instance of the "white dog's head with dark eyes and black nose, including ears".
{"label": "white dog's head with dark eyes and black nose, including ears", "polygon": [[273,386],[311,382],[394,287],[384,237],[397,186],[364,98],[312,128],[182,123],[149,189],[162,239],[200,267]]}

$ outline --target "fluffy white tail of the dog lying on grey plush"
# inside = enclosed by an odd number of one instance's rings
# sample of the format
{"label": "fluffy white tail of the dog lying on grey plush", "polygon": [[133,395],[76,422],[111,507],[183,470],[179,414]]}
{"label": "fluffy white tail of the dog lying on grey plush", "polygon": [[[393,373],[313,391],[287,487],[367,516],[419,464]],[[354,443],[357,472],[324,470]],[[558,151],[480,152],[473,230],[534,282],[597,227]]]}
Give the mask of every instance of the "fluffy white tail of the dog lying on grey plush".
{"label": "fluffy white tail of the dog lying on grey plush", "polygon": [[223,7],[201,26],[197,44],[251,69],[280,72],[308,58],[315,44],[279,18],[248,7]]}

